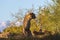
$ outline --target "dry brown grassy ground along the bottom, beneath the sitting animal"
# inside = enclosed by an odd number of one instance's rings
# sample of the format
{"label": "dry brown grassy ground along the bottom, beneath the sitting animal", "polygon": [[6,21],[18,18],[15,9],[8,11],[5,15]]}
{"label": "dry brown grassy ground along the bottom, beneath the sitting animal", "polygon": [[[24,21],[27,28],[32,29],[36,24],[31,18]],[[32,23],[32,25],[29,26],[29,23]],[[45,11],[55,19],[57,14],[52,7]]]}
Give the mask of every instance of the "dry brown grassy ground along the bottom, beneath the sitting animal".
{"label": "dry brown grassy ground along the bottom, beneath the sitting animal", "polygon": [[25,37],[24,35],[14,35],[9,38],[0,38],[0,40],[60,40],[60,34],[56,33],[54,35],[44,34]]}

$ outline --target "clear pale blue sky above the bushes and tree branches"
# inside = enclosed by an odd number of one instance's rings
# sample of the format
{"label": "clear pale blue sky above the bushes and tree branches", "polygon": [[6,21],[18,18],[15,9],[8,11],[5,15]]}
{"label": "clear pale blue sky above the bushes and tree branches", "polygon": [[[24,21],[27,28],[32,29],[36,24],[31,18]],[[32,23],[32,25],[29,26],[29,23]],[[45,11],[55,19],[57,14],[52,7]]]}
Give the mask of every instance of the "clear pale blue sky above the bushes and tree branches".
{"label": "clear pale blue sky above the bushes and tree branches", "polygon": [[[47,3],[52,5],[51,0],[0,0],[0,21],[12,20],[11,13],[16,13],[20,8],[34,8],[44,6]],[[47,5],[46,5],[47,6]]]}

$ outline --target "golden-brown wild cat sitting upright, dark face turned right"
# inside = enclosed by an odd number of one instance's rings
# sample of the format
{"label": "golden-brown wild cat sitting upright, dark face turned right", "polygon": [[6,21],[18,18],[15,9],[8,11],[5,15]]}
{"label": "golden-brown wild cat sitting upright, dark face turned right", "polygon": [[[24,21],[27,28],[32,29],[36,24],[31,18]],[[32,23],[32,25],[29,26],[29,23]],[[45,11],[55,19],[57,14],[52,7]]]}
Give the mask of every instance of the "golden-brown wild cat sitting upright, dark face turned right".
{"label": "golden-brown wild cat sitting upright, dark face turned right", "polygon": [[28,13],[27,15],[25,15],[24,17],[24,21],[23,21],[23,33],[24,35],[31,35],[31,31],[30,31],[30,21],[32,19],[35,19],[36,16],[34,13]]}

